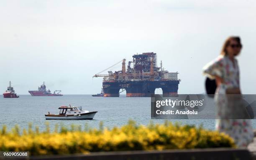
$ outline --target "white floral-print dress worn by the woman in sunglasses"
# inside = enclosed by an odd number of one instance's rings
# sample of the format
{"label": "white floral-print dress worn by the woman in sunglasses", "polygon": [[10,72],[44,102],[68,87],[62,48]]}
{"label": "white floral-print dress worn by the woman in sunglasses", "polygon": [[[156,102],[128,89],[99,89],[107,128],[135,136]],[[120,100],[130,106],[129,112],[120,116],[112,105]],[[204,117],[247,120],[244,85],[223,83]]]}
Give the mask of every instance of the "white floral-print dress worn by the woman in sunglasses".
{"label": "white floral-print dress worn by the woman in sunglasses", "polygon": [[217,107],[216,129],[224,132],[235,140],[237,147],[246,147],[253,140],[253,129],[250,119],[228,119],[220,118],[230,114],[233,106],[236,105],[233,100],[226,96],[226,89],[240,87],[239,68],[235,59],[234,63],[227,57],[220,55],[216,60],[208,63],[203,68],[203,73],[210,79],[212,75],[218,75],[224,82],[219,85],[215,91],[215,104]]}

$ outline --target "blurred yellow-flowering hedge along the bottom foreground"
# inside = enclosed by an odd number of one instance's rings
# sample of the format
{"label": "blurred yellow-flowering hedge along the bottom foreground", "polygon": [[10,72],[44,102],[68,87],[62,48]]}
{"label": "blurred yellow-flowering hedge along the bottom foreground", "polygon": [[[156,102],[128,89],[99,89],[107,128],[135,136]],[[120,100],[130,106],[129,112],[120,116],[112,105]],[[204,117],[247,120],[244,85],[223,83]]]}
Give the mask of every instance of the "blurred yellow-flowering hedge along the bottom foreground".
{"label": "blurred yellow-flowering hedge along the bottom foreground", "polygon": [[32,130],[30,124],[22,134],[18,126],[10,132],[3,126],[0,131],[0,151],[29,151],[31,155],[217,147],[234,148],[235,144],[224,133],[168,121],[144,126],[130,120],[127,125],[112,129],[103,128],[102,123],[100,129],[56,126],[52,133],[49,125],[39,132],[38,128]]}

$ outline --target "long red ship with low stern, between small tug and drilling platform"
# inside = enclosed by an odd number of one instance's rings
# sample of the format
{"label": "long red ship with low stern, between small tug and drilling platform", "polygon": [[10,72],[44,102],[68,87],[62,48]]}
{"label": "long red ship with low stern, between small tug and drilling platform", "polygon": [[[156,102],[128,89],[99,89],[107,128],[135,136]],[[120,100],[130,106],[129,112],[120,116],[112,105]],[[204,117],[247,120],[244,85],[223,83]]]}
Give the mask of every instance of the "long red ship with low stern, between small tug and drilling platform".
{"label": "long red ship with low stern, between small tug and drilling platform", "polygon": [[29,90],[28,92],[32,96],[62,96],[62,94],[60,94],[61,90],[55,90],[54,93],[51,93],[50,90],[46,90],[44,82],[40,87],[38,87],[38,90]]}

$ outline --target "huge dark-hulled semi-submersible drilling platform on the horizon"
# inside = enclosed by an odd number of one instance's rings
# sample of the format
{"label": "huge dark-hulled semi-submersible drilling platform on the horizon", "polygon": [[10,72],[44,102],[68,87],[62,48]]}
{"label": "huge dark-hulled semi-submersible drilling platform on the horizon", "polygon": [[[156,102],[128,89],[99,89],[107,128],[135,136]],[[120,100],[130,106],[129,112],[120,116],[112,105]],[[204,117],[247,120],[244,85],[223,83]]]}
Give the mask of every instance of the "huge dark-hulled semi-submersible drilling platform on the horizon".
{"label": "huge dark-hulled semi-submersible drilling platform on the horizon", "polygon": [[93,76],[103,77],[104,97],[119,97],[120,89],[126,90],[126,97],[151,97],[156,88],[162,89],[164,97],[177,95],[180,81],[178,72],[164,70],[162,61],[161,67],[157,67],[156,53],[146,52],[133,55],[133,61],[128,62],[127,70],[125,59],[122,61],[122,70],[108,71],[108,75],[100,74],[109,67]]}

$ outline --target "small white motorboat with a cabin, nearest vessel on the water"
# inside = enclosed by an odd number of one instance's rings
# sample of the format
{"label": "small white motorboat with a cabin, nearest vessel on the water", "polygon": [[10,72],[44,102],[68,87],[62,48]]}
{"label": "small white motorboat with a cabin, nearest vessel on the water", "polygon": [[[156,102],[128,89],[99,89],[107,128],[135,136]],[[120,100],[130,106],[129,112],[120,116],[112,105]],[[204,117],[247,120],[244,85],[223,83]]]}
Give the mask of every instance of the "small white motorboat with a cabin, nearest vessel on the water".
{"label": "small white motorboat with a cabin, nearest vessel on the water", "polygon": [[45,114],[46,120],[92,120],[97,111],[89,112],[82,107],[61,106],[59,114]]}

